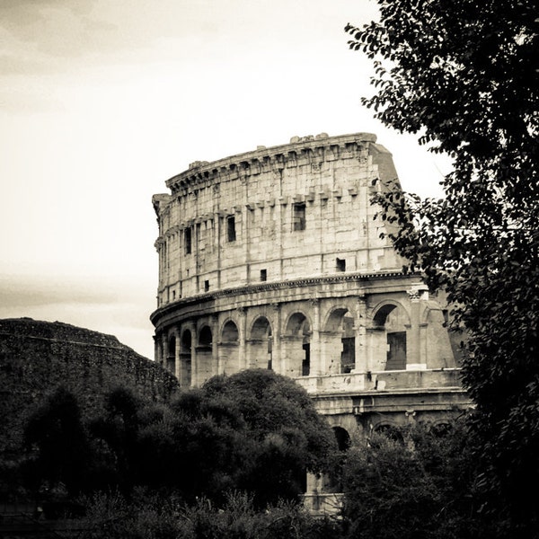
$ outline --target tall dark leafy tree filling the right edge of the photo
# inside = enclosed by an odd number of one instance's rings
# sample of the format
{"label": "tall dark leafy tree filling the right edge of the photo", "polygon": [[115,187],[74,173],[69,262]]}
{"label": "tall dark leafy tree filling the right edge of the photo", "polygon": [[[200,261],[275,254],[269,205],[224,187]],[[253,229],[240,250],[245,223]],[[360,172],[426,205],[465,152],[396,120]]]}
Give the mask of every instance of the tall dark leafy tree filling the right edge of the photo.
{"label": "tall dark leafy tree filling the right edge of the photo", "polygon": [[[378,0],[379,22],[348,25],[375,62],[376,118],[449,155],[443,199],[376,198],[396,249],[444,288],[468,333],[463,382],[476,404],[484,490],[515,526],[535,526],[539,480],[539,114],[531,0]],[[524,528],[523,528],[524,529]],[[525,532],[523,532],[525,533]]]}

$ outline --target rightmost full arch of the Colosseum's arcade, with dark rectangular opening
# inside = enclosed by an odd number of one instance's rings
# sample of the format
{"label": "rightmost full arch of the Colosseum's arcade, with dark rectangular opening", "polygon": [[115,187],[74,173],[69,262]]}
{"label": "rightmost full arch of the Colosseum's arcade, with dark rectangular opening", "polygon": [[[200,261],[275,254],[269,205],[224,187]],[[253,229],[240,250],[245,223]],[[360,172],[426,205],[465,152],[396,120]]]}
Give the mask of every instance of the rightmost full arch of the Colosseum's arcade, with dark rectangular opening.
{"label": "rightmost full arch of the Colosseum's arcade, with dark rectangular opening", "polygon": [[374,370],[405,370],[410,339],[410,314],[395,300],[384,300],[373,310],[371,350]]}

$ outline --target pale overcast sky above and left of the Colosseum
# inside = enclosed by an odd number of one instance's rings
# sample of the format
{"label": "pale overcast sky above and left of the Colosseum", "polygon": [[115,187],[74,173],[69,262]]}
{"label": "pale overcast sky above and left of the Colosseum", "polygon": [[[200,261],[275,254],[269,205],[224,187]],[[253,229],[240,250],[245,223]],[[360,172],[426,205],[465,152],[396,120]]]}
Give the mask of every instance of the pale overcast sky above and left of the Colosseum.
{"label": "pale overcast sky above and left of the Colosseum", "polygon": [[444,160],[360,105],[370,64],[343,28],[373,17],[370,0],[0,0],[0,318],[153,358],[151,198],[194,161],[367,131],[405,190],[437,195]]}

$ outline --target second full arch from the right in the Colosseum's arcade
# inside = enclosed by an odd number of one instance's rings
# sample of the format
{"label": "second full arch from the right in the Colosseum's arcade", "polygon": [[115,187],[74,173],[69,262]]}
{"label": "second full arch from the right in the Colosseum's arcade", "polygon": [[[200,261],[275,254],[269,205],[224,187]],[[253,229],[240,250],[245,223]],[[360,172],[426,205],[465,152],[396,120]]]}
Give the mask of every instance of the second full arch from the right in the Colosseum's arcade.
{"label": "second full arch from the right in the Colosseum's arcade", "polygon": [[350,373],[356,368],[355,317],[349,307],[335,306],[321,332],[323,354],[330,374]]}

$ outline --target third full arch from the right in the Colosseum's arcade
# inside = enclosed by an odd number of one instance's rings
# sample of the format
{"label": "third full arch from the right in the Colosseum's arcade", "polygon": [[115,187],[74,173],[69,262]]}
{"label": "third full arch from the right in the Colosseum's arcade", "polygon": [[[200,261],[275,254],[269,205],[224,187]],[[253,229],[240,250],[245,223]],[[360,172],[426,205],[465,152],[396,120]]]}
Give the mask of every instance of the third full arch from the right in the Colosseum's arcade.
{"label": "third full arch from the right in the Colosseum's arcade", "polygon": [[288,316],[281,347],[288,376],[311,374],[311,323],[306,314],[296,311]]}

